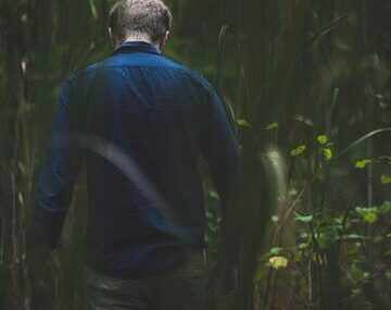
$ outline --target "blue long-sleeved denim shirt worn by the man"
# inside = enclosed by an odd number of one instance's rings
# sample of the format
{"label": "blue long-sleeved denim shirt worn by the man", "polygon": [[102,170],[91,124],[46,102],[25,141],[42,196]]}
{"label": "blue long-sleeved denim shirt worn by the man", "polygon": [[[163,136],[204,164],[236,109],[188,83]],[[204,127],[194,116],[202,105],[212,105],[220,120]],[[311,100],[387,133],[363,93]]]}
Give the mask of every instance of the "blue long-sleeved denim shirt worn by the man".
{"label": "blue long-sleeved denim shirt worn by the man", "polygon": [[[83,161],[85,261],[140,277],[204,247],[199,154],[224,207],[238,141],[212,86],[147,42],[125,42],[63,84],[34,203],[33,239],[54,248]],[[79,206],[75,206],[79,208]]]}

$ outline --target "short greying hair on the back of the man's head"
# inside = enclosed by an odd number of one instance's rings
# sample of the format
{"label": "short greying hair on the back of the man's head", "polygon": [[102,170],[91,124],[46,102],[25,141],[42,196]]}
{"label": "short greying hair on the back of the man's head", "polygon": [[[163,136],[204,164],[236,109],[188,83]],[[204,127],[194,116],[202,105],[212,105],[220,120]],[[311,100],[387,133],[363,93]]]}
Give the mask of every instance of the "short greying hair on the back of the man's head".
{"label": "short greying hair on the back of the man's head", "polygon": [[172,14],[162,0],[119,0],[110,11],[109,26],[118,40],[148,35],[153,42],[171,29]]}

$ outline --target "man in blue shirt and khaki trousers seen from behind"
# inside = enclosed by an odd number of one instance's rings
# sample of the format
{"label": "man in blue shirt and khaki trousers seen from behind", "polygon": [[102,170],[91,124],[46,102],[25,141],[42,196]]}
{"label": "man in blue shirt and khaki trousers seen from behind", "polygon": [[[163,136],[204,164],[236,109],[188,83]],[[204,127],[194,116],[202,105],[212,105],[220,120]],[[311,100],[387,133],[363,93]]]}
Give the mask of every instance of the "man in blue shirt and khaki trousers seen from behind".
{"label": "man in blue shirt and khaki trousers seen from behind", "polygon": [[[118,1],[109,28],[115,51],[73,73],[59,97],[34,203],[29,268],[35,281],[58,244],[85,161],[88,309],[206,307],[197,162],[199,153],[209,162],[229,212],[238,142],[212,86],[161,54],[171,23],[160,0]],[[231,227],[223,226],[227,240]],[[222,245],[214,274],[229,292],[237,247]]]}

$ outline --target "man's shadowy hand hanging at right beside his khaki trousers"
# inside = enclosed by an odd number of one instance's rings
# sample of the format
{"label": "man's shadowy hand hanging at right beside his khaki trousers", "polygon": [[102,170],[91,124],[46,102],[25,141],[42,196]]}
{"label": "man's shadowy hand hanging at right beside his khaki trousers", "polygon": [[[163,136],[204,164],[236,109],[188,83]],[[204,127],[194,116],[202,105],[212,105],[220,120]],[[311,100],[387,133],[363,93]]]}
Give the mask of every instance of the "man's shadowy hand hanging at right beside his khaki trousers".
{"label": "man's shadowy hand hanging at right beside his khaki trousers", "polygon": [[211,270],[207,295],[210,298],[228,298],[238,285],[237,265],[218,261]]}

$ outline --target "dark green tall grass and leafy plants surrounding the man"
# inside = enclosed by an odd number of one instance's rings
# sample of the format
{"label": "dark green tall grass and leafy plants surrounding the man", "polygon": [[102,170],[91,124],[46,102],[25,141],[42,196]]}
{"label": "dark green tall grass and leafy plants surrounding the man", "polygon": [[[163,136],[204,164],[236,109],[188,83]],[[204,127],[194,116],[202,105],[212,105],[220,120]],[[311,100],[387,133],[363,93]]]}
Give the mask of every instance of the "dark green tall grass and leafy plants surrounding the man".
{"label": "dark green tall grass and leafy plants surrounding the man", "polygon": [[[23,309],[28,295],[25,239],[58,91],[73,70],[110,53],[111,2],[0,2],[0,309]],[[168,2],[176,23],[165,53],[212,79],[242,147],[236,309],[386,309],[390,5]],[[81,309],[84,193],[81,174],[41,309]],[[213,261],[219,220],[210,177],[205,193]]]}

